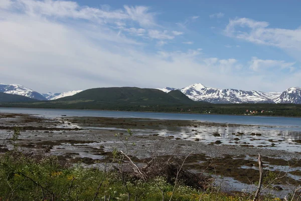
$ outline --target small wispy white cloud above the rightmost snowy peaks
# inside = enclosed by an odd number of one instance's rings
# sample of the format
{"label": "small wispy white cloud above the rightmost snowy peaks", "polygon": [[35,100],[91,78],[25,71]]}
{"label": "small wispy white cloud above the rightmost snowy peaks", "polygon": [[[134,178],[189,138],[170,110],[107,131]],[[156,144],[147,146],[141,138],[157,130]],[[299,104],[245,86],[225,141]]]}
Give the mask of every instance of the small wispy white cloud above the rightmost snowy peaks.
{"label": "small wispy white cloud above the rightmost snowy peaks", "polygon": [[257,57],[252,57],[250,61],[250,69],[254,71],[265,70],[267,68],[280,68],[294,70],[293,65],[295,62],[285,62],[282,60],[271,60],[271,59],[258,59]]}

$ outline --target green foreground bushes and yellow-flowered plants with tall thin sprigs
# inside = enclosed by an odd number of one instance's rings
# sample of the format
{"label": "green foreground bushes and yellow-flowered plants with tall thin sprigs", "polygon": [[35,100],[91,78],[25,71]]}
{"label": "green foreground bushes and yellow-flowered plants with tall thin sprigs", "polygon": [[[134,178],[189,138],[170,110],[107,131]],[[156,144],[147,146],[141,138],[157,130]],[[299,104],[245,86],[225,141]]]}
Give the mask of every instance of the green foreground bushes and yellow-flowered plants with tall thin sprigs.
{"label": "green foreground bushes and yellow-flowered plants with tall thin sprigs", "polygon": [[[251,200],[252,195],[242,192],[223,193],[219,188],[191,187],[178,175],[182,166],[166,166],[168,174],[176,172],[172,178],[154,176],[153,172],[137,175],[139,169],[124,170],[123,162],[128,155],[128,139],[132,136],[116,135],[126,148],[125,153],[115,150],[113,160],[95,163],[95,168],[85,168],[81,164],[71,164],[52,155],[22,153],[18,150],[19,130],[15,130],[11,141],[14,149],[0,154],[0,200]],[[134,146],[134,145],[133,145]],[[170,160],[170,159],[169,159]],[[110,164],[109,164],[110,161]],[[128,158],[128,162],[131,160]],[[115,168],[109,169],[108,167]],[[162,167],[164,162],[157,164]],[[172,168],[171,168],[172,167]],[[124,168],[124,169],[123,169]],[[141,170],[141,169],[139,169]],[[157,172],[162,172],[162,169]],[[188,172],[189,173],[189,172]],[[136,175],[136,176],[135,176]],[[152,175],[152,176],[149,176]],[[172,174],[170,174],[172,175]],[[196,174],[183,174],[183,178]],[[195,183],[200,183],[197,177]],[[280,200],[269,195],[260,200]]]}

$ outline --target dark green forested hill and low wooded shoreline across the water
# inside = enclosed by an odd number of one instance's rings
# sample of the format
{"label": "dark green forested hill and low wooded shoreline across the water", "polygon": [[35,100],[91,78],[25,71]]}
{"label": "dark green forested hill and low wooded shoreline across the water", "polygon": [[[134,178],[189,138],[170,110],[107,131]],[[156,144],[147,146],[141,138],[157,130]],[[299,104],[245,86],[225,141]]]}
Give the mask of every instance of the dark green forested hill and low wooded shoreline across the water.
{"label": "dark green forested hill and low wooded shoreline across the water", "polygon": [[[73,96],[34,103],[4,103],[1,99],[0,102],[2,107],[301,117],[301,105],[210,104],[194,102],[179,90],[165,93],[137,87],[92,88]],[[250,114],[247,110],[255,113]]]}

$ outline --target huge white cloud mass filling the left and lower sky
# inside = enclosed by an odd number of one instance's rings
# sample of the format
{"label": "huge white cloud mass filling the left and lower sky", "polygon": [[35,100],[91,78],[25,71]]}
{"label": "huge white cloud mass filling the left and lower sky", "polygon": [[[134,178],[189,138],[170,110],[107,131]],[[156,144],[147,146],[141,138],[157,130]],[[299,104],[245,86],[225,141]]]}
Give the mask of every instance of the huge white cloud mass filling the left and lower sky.
{"label": "huge white cloud mass filling the left and lower sky", "polygon": [[[282,90],[299,83],[301,72],[296,70],[279,77],[273,71],[253,72],[251,63],[243,65],[234,58],[206,56],[202,49],[170,52],[156,47],[156,43],[174,42],[176,36],[160,26],[148,28],[156,24],[152,17],[144,22],[136,19],[148,13],[138,7],[110,10],[50,0],[18,3],[0,12],[0,80],[4,83],[24,84],[39,92],[110,86],[181,88],[196,82]],[[263,70],[261,63],[258,69]],[[283,69],[289,69],[285,63]]]}

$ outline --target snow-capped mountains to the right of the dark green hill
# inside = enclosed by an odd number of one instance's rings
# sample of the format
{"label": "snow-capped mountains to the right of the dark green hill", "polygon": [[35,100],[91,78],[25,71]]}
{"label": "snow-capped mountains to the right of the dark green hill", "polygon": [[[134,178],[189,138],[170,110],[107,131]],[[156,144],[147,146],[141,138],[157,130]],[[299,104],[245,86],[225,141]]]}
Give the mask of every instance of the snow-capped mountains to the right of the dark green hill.
{"label": "snow-capped mountains to the right of the dark green hill", "polygon": [[[169,92],[171,87],[159,88]],[[175,90],[175,89],[174,89]],[[192,84],[181,90],[190,99],[215,104],[239,103],[292,103],[301,104],[301,87],[288,88],[281,92],[245,91],[206,87],[201,83]]]}

